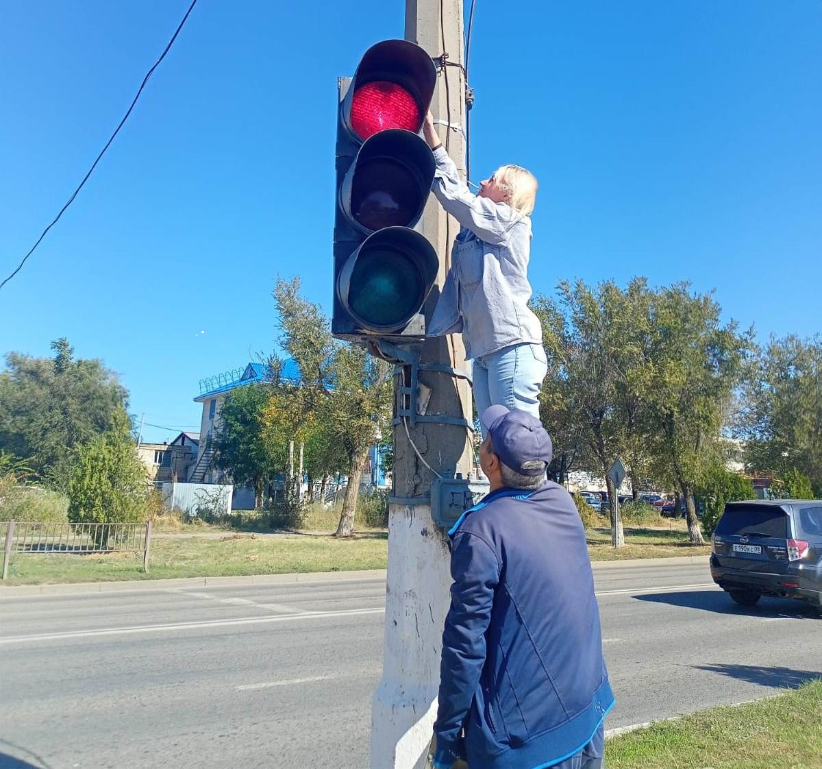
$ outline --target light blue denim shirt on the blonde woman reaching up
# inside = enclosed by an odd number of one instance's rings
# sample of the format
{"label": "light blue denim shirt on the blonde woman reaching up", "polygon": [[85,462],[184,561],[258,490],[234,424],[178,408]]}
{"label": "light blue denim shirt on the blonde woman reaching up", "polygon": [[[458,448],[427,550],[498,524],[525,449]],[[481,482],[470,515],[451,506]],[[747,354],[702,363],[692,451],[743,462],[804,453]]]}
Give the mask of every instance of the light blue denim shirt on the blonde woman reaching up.
{"label": "light blue denim shirt on the blonde woman reaching up", "polygon": [[530,218],[514,220],[506,203],[474,195],[445,148],[434,151],[434,158],[432,191],[462,229],[427,336],[462,331],[466,360],[522,342],[541,345],[542,327],[528,307]]}

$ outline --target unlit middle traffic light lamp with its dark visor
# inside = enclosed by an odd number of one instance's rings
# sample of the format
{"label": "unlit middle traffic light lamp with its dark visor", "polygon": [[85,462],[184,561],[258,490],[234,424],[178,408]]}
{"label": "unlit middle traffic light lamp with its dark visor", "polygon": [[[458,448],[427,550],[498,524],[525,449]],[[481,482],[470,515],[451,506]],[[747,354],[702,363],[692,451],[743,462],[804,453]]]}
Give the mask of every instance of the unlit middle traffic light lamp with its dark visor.
{"label": "unlit middle traffic light lamp with its dark visor", "polygon": [[413,227],[423,215],[436,163],[417,134],[393,129],[368,139],[339,188],[346,216],[365,232]]}

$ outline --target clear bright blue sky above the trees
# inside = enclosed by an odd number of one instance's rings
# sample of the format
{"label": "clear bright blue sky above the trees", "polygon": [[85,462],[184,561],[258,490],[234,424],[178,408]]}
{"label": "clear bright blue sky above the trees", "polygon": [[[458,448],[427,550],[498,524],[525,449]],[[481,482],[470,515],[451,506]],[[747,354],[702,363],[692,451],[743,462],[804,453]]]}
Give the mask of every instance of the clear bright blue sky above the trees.
{"label": "clear bright blue sky above the trees", "polygon": [[[3,0],[3,277],[187,4]],[[329,308],[336,77],[403,16],[399,0],[200,0],[0,291],[0,352],[67,336],[120,374],[133,413],[173,428],[144,438],[196,429],[199,379],[274,348],[277,275]],[[760,337],[819,331],[820,28],[817,0],[478,0],[473,177],[537,174],[534,289],[690,280]]]}

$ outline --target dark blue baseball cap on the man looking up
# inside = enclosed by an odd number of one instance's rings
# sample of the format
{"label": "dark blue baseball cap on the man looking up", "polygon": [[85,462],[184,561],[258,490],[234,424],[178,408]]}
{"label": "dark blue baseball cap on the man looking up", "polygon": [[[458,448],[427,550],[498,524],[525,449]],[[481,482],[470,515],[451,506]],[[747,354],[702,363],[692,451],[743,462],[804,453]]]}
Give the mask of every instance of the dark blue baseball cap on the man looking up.
{"label": "dark blue baseball cap on the man looking up", "polygon": [[522,475],[543,475],[545,470],[523,470],[524,462],[542,460],[551,464],[554,448],[543,423],[527,411],[492,405],[483,411],[485,429],[494,444],[494,453],[503,465]]}

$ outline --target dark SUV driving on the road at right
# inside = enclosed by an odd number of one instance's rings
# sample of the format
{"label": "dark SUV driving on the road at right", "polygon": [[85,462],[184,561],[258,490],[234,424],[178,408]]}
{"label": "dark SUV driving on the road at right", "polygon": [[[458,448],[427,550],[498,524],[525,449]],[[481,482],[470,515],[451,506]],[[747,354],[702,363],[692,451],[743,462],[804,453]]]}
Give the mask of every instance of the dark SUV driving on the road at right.
{"label": "dark SUV driving on the road at right", "polygon": [[711,577],[737,604],[779,595],[822,608],[822,500],[728,503],[711,542]]}

